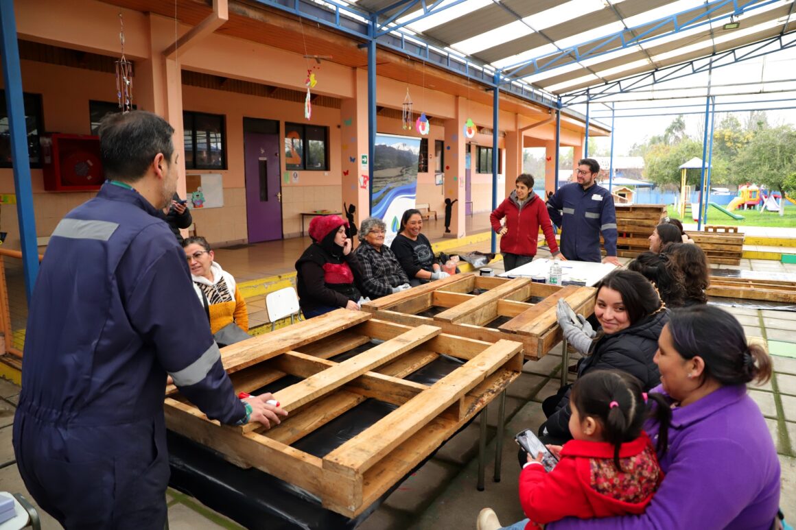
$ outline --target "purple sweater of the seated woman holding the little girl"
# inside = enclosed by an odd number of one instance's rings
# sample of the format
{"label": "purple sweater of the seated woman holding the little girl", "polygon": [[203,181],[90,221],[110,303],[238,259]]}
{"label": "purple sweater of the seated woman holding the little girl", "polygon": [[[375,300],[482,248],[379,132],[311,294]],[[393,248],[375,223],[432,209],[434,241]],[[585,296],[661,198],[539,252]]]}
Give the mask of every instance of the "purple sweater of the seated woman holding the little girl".
{"label": "purple sweater of the seated woman holding the little girl", "polygon": [[[650,392],[663,392],[658,386]],[[547,528],[771,528],[779,505],[779,460],[746,386],[723,387],[675,408],[666,473],[641,516],[579,520]],[[655,443],[658,426],[646,431]]]}

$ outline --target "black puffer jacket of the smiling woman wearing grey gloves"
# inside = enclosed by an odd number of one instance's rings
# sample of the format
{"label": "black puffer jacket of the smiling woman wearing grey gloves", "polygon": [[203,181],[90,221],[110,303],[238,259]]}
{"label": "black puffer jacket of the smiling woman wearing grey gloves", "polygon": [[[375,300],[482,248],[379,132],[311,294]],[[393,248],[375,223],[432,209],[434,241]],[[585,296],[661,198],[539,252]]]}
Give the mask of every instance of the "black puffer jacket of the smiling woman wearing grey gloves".
{"label": "black puffer jacket of the smiling woman wearing grey gloves", "polygon": [[[579,361],[578,377],[594,370],[621,370],[638,377],[644,390],[650,390],[661,382],[661,372],[652,359],[657,351],[657,338],[666,322],[669,322],[669,312],[661,311],[618,333],[604,335],[591,350],[591,355]],[[572,439],[569,394],[570,389],[567,389],[556,411],[544,423],[548,434],[554,438]]]}

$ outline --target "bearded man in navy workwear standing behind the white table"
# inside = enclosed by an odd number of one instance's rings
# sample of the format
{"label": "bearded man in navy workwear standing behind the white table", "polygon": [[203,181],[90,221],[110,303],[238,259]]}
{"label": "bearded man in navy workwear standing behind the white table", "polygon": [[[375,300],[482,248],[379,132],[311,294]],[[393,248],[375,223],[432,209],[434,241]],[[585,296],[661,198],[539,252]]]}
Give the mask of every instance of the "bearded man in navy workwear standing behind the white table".
{"label": "bearded man in navy workwear standing behind the white table", "polygon": [[[600,261],[602,232],[607,256],[603,263],[621,266],[616,259],[616,210],[614,198],[597,185],[599,164],[594,158],[578,162],[577,183],[561,186],[548,198],[550,219],[561,227],[561,253],[576,261]],[[562,216],[563,213],[563,216]]]}

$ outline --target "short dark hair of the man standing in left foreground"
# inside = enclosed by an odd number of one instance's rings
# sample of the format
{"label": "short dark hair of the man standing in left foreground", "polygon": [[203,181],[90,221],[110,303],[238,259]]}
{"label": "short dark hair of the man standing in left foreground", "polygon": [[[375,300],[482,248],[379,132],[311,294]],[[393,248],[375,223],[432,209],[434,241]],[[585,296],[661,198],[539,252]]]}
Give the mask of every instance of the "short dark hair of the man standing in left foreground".
{"label": "short dark hair of the man standing in left foreground", "polygon": [[100,122],[100,155],[105,177],[136,182],[158,153],[171,163],[174,127],[151,112],[106,115]]}

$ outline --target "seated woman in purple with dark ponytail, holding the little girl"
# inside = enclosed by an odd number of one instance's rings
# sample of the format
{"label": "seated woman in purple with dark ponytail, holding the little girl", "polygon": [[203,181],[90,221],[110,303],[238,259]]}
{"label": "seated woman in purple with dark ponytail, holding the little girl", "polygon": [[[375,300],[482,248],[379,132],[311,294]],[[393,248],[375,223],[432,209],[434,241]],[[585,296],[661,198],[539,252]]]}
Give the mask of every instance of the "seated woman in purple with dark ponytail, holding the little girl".
{"label": "seated woman in purple with dark ponytail, holding the little girl", "polygon": [[658,344],[661,385],[652,392],[671,407],[671,427],[650,419],[645,430],[657,441],[661,487],[642,515],[568,518],[548,528],[773,528],[779,460],[747,394],[748,383],[771,377],[770,357],[715,306],[673,311]]}

